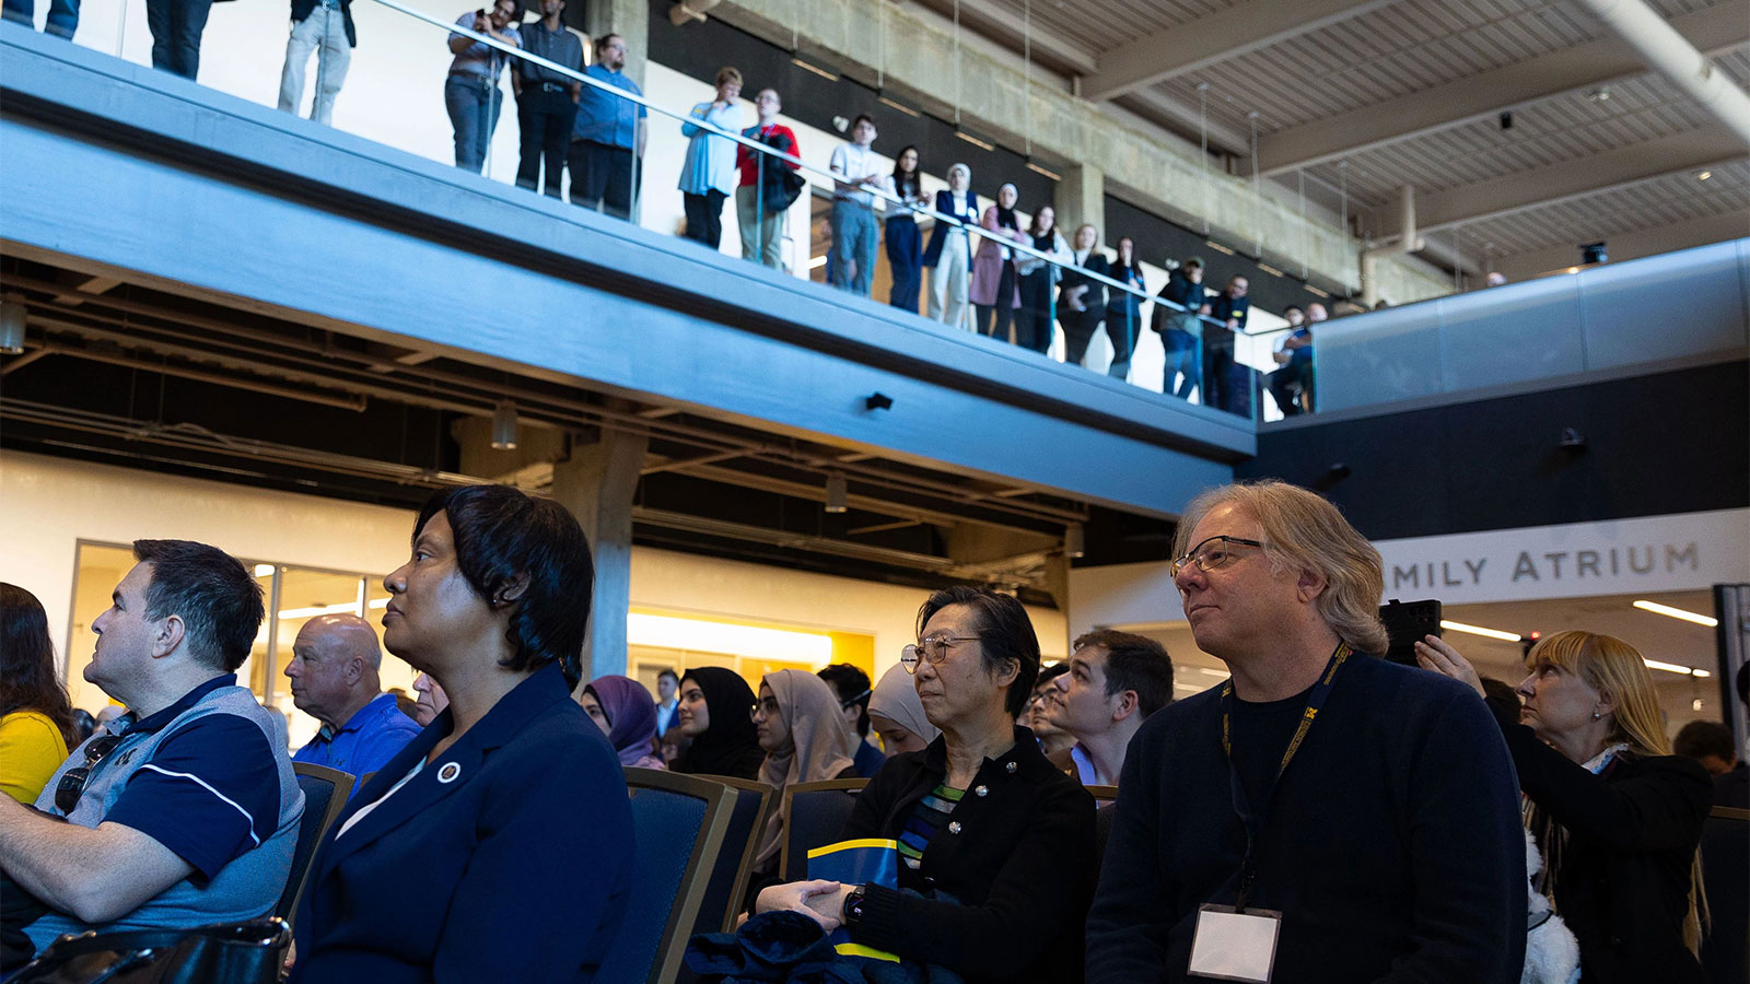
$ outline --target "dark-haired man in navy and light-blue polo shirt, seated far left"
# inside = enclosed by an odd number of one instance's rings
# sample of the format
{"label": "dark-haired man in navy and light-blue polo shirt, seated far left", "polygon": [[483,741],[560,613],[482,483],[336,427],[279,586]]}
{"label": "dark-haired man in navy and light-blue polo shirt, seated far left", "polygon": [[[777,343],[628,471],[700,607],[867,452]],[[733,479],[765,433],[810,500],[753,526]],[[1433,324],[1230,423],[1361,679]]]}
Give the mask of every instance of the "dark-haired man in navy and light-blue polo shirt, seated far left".
{"label": "dark-haired man in navy and light-blue polo shirt, seated far left", "polygon": [[285,720],[234,672],[261,587],[201,543],[133,553],[84,672],[128,714],[61,763],[35,811],[0,804],[0,868],[51,909],[24,930],[38,951],[61,933],[254,919],[292,867],[304,795]]}

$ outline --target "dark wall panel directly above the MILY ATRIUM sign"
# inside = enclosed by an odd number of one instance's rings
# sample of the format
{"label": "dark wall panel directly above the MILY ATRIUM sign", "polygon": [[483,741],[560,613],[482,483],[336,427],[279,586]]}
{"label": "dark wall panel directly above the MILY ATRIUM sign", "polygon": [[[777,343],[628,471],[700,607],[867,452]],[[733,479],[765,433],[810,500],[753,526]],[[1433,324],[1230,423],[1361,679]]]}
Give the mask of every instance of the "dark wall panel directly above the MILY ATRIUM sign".
{"label": "dark wall panel directly above the MILY ATRIUM sign", "polygon": [[1323,487],[1376,539],[1743,508],[1750,364],[1267,429],[1236,473]]}

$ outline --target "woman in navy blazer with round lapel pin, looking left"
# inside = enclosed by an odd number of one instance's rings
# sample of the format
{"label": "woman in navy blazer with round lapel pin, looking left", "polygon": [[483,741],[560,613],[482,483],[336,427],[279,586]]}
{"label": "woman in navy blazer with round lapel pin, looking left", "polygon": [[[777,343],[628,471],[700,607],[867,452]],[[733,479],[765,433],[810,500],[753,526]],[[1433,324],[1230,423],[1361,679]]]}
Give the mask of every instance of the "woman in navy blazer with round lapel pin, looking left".
{"label": "woman in navy blazer with round lapel pin, looking left", "polygon": [[383,644],[450,707],[324,839],[292,980],[595,980],[630,895],[632,807],[570,699],[590,545],[502,485],[439,492],[413,531],[383,580]]}

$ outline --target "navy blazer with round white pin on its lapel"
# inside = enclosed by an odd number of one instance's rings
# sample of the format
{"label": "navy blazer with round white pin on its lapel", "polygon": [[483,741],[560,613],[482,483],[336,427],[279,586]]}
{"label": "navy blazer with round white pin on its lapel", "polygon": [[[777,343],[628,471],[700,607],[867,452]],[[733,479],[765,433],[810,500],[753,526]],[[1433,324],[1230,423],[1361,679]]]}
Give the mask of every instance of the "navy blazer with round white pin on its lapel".
{"label": "navy blazer with round white pin on its lapel", "polygon": [[632,891],[632,804],[556,665],[450,734],[446,709],[329,830],[298,914],[296,984],[588,982]]}

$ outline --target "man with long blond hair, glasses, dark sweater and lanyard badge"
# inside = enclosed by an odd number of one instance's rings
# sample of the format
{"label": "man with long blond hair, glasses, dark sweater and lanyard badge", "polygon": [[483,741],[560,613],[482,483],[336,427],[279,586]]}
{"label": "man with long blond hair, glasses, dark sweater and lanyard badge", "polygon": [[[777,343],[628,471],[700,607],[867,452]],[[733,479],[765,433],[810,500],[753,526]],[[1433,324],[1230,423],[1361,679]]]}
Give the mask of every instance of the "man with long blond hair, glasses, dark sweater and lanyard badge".
{"label": "man with long blond hair, glasses, dark sweater and lanyard badge", "polygon": [[1194,499],[1174,553],[1197,648],[1232,678],[1129,746],[1087,979],[1519,980],[1512,760],[1468,688],[1370,655],[1379,552],[1262,481]]}

